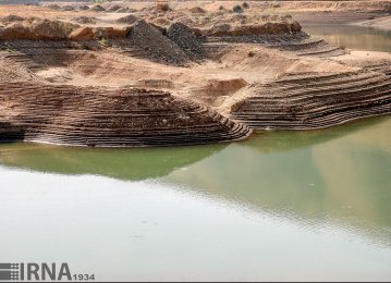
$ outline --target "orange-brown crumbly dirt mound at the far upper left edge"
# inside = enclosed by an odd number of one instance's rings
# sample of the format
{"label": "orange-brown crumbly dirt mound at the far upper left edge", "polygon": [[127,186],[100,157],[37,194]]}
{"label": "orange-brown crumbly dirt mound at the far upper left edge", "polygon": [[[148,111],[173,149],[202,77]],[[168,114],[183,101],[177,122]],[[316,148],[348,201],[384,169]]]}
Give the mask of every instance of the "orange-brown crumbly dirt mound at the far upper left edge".
{"label": "orange-brown crumbly dirt mound at the far upper left edge", "polygon": [[33,17],[0,28],[0,39],[61,40],[68,39],[68,35],[77,27],[60,21]]}

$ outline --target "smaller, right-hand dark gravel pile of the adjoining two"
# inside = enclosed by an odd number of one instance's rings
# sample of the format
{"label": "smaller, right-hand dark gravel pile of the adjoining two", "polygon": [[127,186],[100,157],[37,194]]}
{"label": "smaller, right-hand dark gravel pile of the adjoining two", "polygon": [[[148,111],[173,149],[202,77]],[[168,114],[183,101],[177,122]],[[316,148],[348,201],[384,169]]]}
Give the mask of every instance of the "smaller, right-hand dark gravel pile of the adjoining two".
{"label": "smaller, right-hand dark gravel pile of the adjoining two", "polygon": [[184,24],[174,23],[167,30],[167,37],[175,42],[191,59],[200,59],[204,48],[192,29]]}

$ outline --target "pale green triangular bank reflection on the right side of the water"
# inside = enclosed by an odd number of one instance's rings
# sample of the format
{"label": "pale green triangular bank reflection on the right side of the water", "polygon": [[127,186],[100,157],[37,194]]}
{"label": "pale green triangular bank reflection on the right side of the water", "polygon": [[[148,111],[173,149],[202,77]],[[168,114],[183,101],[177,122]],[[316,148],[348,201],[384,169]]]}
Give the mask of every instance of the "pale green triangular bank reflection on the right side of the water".
{"label": "pale green triangular bank reflection on the right side of the water", "polygon": [[261,135],[167,180],[308,225],[333,221],[391,246],[390,128],[388,118]]}

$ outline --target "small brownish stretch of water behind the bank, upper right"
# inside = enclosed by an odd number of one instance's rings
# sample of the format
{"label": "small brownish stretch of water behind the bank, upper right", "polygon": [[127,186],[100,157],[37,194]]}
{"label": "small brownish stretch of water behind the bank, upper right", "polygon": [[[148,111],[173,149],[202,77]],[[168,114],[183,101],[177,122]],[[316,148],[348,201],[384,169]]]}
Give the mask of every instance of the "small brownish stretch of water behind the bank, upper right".
{"label": "small brownish stretch of water behind the bank, upper right", "polygon": [[351,25],[304,25],[304,30],[329,44],[355,50],[391,52],[391,32]]}

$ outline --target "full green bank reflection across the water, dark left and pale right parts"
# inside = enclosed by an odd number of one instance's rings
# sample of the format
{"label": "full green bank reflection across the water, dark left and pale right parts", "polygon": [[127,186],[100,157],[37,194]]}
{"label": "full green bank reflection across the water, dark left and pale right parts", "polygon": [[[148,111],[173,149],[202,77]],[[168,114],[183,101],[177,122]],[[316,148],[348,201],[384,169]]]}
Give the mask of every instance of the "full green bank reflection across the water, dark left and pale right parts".
{"label": "full green bank reflection across the water, dark left and pale right parts", "polygon": [[279,218],[332,221],[391,246],[391,118],[227,145],[86,149],[0,146],[0,163],[61,174],[156,179]]}

